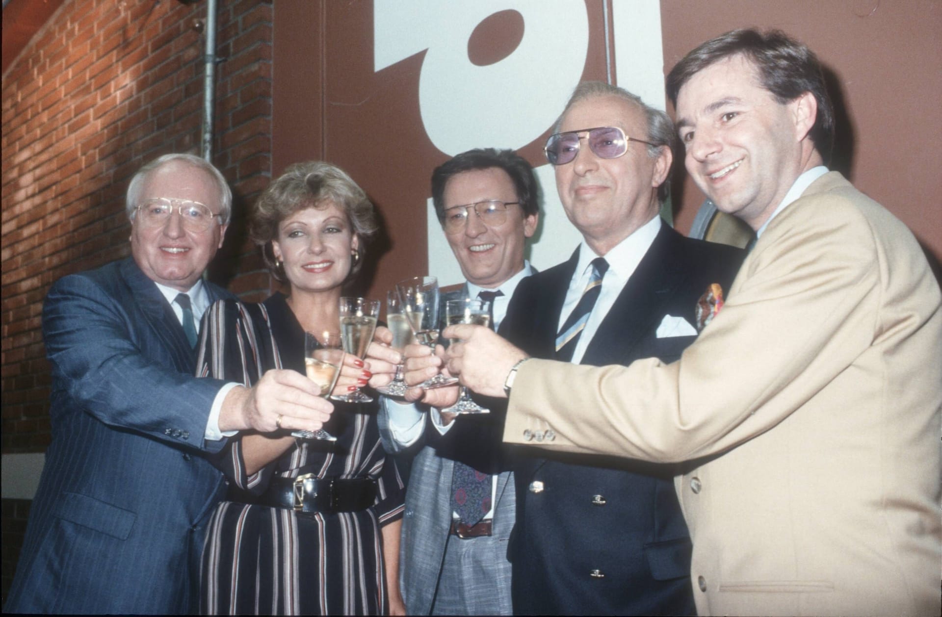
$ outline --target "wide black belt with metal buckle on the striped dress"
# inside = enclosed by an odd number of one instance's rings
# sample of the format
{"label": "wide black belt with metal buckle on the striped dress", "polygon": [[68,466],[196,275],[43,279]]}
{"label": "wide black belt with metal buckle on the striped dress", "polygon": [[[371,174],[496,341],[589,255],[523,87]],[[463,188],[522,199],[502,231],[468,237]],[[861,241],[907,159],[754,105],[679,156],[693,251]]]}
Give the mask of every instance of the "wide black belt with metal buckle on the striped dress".
{"label": "wide black belt with metal buckle on the striped dress", "polygon": [[262,503],[273,508],[299,512],[355,512],[366,510],[376,501],[376,480],[372,478],[274,478]]}

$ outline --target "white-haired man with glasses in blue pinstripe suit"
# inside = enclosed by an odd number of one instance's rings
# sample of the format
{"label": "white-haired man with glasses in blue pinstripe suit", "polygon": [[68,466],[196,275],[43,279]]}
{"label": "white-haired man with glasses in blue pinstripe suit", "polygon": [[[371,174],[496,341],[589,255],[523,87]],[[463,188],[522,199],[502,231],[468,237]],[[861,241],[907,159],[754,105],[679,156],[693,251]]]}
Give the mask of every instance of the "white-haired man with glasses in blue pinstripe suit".
{"label": "white-haired man with glasses in blue pinstripe suit", "polygon": [[53,439],[4,610],[194,609],[203,524],[225,488],[207,456],[237,430],[317,430],[329,417],[293,371],[252,389],[192,377],[200,316],[231,297],[201,278],[231,203],[212,165],[161,156],[128,187],[132,257],[46,296]]}

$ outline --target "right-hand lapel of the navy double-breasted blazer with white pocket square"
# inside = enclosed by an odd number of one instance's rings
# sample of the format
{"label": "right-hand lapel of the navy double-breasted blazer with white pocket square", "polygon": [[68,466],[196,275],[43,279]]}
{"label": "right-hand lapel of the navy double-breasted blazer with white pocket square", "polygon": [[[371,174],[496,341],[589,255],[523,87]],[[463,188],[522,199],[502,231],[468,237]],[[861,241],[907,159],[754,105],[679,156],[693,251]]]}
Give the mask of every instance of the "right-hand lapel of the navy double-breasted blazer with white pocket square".
{"label": "right-hand lapel of the navy double-breasted blazer with white pocket square", "polygon": [[586,348],[584,365],[625,364],[632,349],[649,336],[664,317],[663,305],[681,283],[684,273],[677,268],[680,235],[661,225],[651,247],[622,289],[609,314]]}

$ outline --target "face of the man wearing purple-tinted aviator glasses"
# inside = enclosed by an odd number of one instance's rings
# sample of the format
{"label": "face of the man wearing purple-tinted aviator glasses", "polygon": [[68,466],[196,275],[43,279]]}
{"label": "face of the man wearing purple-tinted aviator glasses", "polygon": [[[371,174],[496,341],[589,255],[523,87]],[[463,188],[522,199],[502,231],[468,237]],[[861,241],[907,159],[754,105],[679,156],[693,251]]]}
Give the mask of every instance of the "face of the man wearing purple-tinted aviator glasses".
{"label": "face of the man wearing purple-tinted aviator glasses", "polygon": [[[559,131],[598,126],[617,126],[628,137],[650,139],[641,107],[610,95],[571,106]],[[604,255],[658,215],[658,187],[667,178],[671,160],[669,148],[651,157],[647,146],[637,141],[629,141],[627,152],[617,158],[600,158],[582,139],[576,159],[556,167],[562,207],[593,251]]]}

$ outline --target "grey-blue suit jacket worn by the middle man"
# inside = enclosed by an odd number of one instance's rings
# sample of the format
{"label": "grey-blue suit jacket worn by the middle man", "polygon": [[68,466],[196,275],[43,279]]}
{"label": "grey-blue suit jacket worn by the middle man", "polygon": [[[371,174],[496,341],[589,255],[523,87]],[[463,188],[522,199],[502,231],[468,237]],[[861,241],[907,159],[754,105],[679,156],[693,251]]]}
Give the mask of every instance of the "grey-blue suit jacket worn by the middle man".
{"label": "grey-blue suit jacket worn by the middle man", "polygon": [[[444,313],[447,300],[460,300],[467,297],[467,285],[450,293],[443,293],[441,308]],[[486,403],[489,405],[490,403]],[[463,416],[456,422],[486,423],[489,418],[484,416]],[[403,448],[390,436],[389,421],[381,406],[379,415],[380,435],[382,445],[388,452],[399,452]],[[495,438],[492,443],[499,444],[500,430],[503,425],[495,427]],[[448,456],[454,456],[447,443],[437,439],[437,430],[426,427],[423,438],[417,444],[409,447],[417,451],[412,463],[412,472],[406,490],[406,510],[402,522],[402,542],[399,553],[400,587],[406,609],[410,615],[428,615],[431,611],[435,589],[442,576],[445,544],[448,539],[448,529],[451,526],[451,477],[455,462]],[[451,434],[448,431],[447,434]],[[484,453],[477,460],[467,460],[459,455],[464,463],[471,464],[480,471],[496,473],[500,471],[499,464],[494,461],[496,450],[493,453]],[[488,460],[490,459],[490,460]],[[507,560],[506,544],[510,539],[515,515],[513,493],[513,475],[509,471],[500,472],[497,476],[497,491],[495,495],[495,511],[493,519],[493,537],[499,542],[500,550],[495,559],[489,561],[493,570],[486,576],[481,576],[481,585],[491,586],[496,581],[496,593],[501,607],[505,612],[511,609],[511,563]],[[494,546],[494,544],[490,544]],[[463,576],[475,576],[474,572],[462,573]]]}

